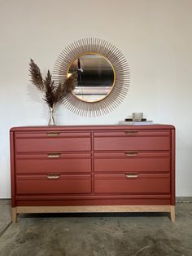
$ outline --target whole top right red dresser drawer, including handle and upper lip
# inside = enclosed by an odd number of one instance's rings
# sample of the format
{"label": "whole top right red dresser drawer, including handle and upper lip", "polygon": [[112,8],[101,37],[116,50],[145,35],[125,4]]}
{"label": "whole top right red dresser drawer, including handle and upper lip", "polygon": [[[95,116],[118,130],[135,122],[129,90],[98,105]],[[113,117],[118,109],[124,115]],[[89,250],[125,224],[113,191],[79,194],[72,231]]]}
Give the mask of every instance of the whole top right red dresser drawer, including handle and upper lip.
{"label": "whole top right red dresser drawer, including handle and upper lip", "polygon": [[97,132],[94,133],[94,150],[169,150],[169,135],[169,130]]}

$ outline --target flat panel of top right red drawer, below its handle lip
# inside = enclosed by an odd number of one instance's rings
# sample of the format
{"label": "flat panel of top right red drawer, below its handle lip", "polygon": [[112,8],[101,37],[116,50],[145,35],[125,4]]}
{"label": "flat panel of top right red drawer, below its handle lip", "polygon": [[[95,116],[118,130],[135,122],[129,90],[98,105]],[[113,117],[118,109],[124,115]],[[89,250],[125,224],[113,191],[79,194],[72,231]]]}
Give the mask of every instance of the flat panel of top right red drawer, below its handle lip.
{"label": "flat panel of top right red drawer, below its handle lip", "polygon": [[95,137],[95,151],[111,150],[169,150],[169,136]]}

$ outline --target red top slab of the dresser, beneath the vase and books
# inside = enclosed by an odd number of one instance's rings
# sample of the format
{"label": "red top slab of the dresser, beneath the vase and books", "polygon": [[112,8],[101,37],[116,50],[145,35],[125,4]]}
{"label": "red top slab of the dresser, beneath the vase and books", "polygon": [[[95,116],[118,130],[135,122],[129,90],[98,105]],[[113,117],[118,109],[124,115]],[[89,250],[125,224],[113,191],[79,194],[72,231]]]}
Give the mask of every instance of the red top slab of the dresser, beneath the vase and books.
{"label": "red top slab of the dresser, beneath the vase and books", "polygon": [[74,125],[74,126],[20,126],[12,127],[11,131],[43,131],[43,130],[174,130],[172,125]]}

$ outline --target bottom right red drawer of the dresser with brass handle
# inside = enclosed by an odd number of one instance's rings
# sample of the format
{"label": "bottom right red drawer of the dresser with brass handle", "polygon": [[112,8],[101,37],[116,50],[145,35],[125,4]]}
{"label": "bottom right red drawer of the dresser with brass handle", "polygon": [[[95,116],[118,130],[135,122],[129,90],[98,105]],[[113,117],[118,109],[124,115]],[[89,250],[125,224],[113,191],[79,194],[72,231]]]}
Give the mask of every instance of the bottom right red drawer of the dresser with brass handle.
{"label": "bottom right red drawer of the dresser with brass handle", "polygon": [[[127,174],[129,175],[129,174]],[[137,176],[137,175],[136,175]],[[169,174],[138,174],[137,178],[125,174],[95,174],[95,193],[169,194]],[[133,174],[134,177],[134,174]]]}

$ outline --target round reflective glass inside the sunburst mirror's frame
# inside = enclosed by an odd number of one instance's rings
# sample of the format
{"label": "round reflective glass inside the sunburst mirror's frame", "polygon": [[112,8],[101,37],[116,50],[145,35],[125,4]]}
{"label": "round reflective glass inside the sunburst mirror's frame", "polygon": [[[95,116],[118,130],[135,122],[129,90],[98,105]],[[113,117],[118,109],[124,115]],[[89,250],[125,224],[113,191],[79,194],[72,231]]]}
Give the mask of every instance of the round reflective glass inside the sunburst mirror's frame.
{"label": "round reflective glass inside the sunburst mirror's frame", "polygon": [[72,62],[67,76],[76,73],[77,84],[72,94],[85,102],[97,102],[110,94],[116,73],[103,55],[85,53]]}

